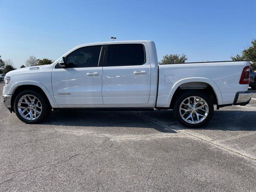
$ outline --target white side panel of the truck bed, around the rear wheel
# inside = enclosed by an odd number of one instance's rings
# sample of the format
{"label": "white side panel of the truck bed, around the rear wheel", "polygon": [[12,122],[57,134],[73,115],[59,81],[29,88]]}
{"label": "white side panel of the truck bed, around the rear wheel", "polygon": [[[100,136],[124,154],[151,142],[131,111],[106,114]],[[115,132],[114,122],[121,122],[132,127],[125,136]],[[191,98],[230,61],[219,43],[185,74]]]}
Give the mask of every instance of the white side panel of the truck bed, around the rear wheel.
{"label": "white side panel of the truck bed, around the rear wheel", "polygon": [[237,92],[248,90],[239,84],[249,62],[208,62],[159,65],[157,107],[169,107],[175,90],[186,82],[206,82],[216,93],[218,104],[232,104]]}

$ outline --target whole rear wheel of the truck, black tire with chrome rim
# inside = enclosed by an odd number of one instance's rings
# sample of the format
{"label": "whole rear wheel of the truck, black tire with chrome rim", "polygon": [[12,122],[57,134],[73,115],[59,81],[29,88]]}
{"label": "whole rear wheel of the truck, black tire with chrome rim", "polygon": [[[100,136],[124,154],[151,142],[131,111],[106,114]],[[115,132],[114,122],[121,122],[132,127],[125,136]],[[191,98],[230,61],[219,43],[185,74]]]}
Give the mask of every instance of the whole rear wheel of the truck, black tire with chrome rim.
{"label": "whole rear wheel of the truck, black tire with chrome rim", "polygon": [[[188,98],[190,99],[188,100]],[[196,100],[198,103],[195,105],[193,100]],[[199,102],[200,100],[201,102]],[[214,107],[209,96],[197,90],[189,90],[182,93],[177,98],[173,107],[176,120],[189,128],[199,128],[206,125],[211,120],[213,112]]]}

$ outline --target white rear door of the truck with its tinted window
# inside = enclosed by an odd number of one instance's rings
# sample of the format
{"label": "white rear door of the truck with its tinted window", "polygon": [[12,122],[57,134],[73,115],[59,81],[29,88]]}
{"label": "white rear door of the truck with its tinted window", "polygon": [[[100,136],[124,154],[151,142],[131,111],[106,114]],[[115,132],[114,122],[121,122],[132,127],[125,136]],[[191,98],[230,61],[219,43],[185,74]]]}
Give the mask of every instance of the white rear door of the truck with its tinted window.
{"label": "white rear door of the truck with its tinted window", "polygon": [[102,68],[104,105],[147,104],[150,59],[146,43],[107,44]]}

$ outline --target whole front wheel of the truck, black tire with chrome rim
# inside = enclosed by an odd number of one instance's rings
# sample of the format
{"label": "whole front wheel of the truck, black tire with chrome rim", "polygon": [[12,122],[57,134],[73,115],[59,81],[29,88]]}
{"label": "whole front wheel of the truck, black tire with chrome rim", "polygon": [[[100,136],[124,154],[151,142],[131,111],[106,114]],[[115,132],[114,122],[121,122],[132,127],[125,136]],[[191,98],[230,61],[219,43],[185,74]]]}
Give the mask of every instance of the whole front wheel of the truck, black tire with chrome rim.
{"label": "whole front wheel of the truck, black tire with chrome rim", "polygon": [[16,116],[27,124],[42,122],[50,115],[51,111],[52,108],[48,100],[35,90],[24,90],[14,99]]}

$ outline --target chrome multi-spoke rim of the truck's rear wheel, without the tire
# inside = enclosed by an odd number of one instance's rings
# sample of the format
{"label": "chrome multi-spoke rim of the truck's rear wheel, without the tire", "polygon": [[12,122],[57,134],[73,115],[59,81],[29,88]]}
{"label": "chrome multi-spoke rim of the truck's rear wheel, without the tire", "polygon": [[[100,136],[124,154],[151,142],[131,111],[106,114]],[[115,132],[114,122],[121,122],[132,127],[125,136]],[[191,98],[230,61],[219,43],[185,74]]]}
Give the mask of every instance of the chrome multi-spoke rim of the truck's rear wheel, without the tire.
{"label": "chrome multi-spoke rim of the truck's rear wheel, without the tire", "polygon": [[207,102],[198,96],[190,96],[180,104],[180,116],[190,124],[197,124],[206,119],[209,113]]}

